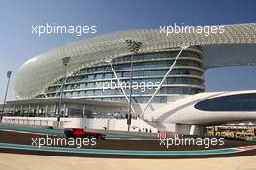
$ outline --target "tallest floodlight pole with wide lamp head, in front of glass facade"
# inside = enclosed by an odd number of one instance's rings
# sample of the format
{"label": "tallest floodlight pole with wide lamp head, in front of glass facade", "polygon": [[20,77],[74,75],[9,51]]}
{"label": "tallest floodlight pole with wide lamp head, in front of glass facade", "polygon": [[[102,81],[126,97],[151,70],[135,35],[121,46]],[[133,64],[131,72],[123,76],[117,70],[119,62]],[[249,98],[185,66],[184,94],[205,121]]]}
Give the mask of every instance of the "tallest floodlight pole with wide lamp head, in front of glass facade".
{"label": "tallest floodlight pole with wide lamp head, in front of glass facade", "polygon": [[131,110],[132,110],[132,77],[133,77],[133,57],[134,54],[137,54],[138,51],[140,50],[142,43],[141,42],[136,42],[134,40],[127,39],[125,40],[129,51],[132,53],[131,55],[131,67],[130,67],[130,95],[129,95],[129,109],[128,109],[128,117],[127,117],[127,125],[128,125],[128,131],[130,131],[130,126],[132,122],[132,117],[131,117]]}

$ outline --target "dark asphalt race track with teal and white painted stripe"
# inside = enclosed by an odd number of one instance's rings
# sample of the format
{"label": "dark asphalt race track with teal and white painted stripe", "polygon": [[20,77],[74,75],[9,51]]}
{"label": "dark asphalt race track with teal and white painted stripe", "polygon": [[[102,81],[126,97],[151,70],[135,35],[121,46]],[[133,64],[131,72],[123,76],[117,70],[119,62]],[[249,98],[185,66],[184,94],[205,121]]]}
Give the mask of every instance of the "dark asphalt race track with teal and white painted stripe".
{"label": "dark asphalt race track with teal and white painted stripe", "polygon": [[[253,145],[242,141],[225,140],[221,147],[205,149],[200,146],[172,146],[169,149],[159,145],[158,140],[96,140],[95,146],[31,146],[32,138],[46,137],[44,134],[0,131],[0,152],[49,156],[87,156],[115,158],[207,158],[256,155],[256,149],[243,151],[234,147]],[[62,137],[54,136],[50,137]],[[242,152],[241,152],[242,151]]]}

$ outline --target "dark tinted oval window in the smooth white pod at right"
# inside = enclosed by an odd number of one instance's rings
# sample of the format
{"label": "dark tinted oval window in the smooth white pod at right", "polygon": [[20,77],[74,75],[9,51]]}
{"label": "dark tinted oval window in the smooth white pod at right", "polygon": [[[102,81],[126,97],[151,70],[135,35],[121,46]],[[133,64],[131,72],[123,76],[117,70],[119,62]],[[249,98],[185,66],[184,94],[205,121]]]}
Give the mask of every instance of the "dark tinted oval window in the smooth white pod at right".
{"label": "dark tinted oval window in the smooth white pod at right", "polygon": [[204,111],[256,111],[256,94],[240,94],[201,101],[195,108]]}

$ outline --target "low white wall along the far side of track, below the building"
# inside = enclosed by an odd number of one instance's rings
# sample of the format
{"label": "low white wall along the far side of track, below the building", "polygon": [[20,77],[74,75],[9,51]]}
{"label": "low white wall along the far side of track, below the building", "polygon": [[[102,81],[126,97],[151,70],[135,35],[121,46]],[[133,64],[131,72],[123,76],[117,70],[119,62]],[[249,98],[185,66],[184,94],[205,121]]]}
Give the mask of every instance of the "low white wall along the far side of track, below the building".
{"label": "low white wall along the far side of track, below the building", "polygon": [[[24,124],[24,125],[41,125],[54,126],[57,125],[57,118],[55,117],[12,117],[4,116],[2,123],[9,124]],[[104,129],[127,131],[126,119],[107,119],[107,118],[61,118],[60,128],[88,128],[88,129]],[[157,132],[157,128],[152,127],[143,120],[132,119],[131,131],[138,132],[141,130],[151,129],[152,132]]]}

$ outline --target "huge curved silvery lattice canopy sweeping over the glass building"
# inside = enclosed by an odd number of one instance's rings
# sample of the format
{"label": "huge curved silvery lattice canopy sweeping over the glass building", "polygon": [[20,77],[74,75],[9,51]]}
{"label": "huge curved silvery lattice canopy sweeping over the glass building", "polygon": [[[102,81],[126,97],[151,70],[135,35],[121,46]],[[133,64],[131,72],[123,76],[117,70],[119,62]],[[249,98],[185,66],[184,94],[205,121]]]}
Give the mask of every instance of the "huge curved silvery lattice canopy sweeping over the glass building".
{"label": "huge curved silvery lattice canopy sweeping over the glass building", "polygon": [[200,46],[206,69],[256,64],[256,24],[225,25],[224,33],[160,33],[158,29],[120,31],[57,47],[26,61],[16,72],[14,90],[23,98],[43,93],[64,76],[63,57],[71,57],[69,74],[129,54],[126,39],[142,42],[139,53],[180,46]]}

